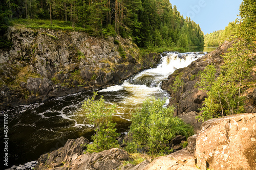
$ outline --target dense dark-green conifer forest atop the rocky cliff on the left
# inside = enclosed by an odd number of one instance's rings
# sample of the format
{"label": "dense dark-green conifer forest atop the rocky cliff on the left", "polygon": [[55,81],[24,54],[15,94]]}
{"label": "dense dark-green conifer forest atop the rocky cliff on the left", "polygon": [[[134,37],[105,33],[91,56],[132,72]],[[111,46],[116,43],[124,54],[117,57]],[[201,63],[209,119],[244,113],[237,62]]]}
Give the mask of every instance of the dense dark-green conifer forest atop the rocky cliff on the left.
{"label": "dense dark-green conifer forest atop the rocky cliff on the left", "polygon": [[93,36],[132,37],[139,47],[203,46],[204,34],[168,0],[1,0],[1,35],[13,19],[59,20]]}

